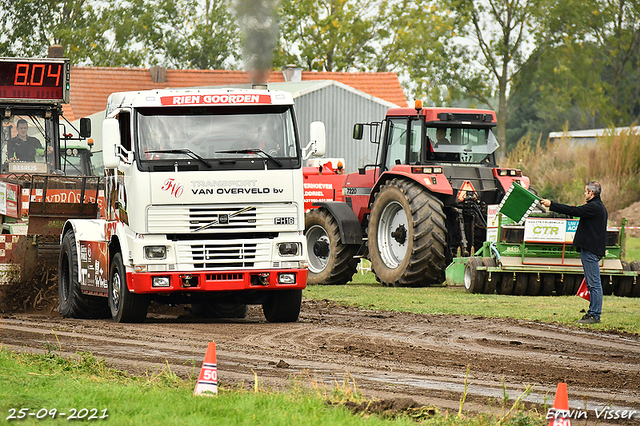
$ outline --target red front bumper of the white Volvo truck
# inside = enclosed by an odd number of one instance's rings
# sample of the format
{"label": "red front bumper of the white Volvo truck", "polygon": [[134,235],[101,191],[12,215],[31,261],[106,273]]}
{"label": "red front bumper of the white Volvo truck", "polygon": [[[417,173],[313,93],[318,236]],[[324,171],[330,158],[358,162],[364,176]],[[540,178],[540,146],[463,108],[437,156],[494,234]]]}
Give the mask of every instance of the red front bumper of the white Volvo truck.
{"label": "red front bumper of the white Volvo truck", "polygon": [[307,270],[128,272],[127,285],[132,293],[293,290],[307,286]]}

